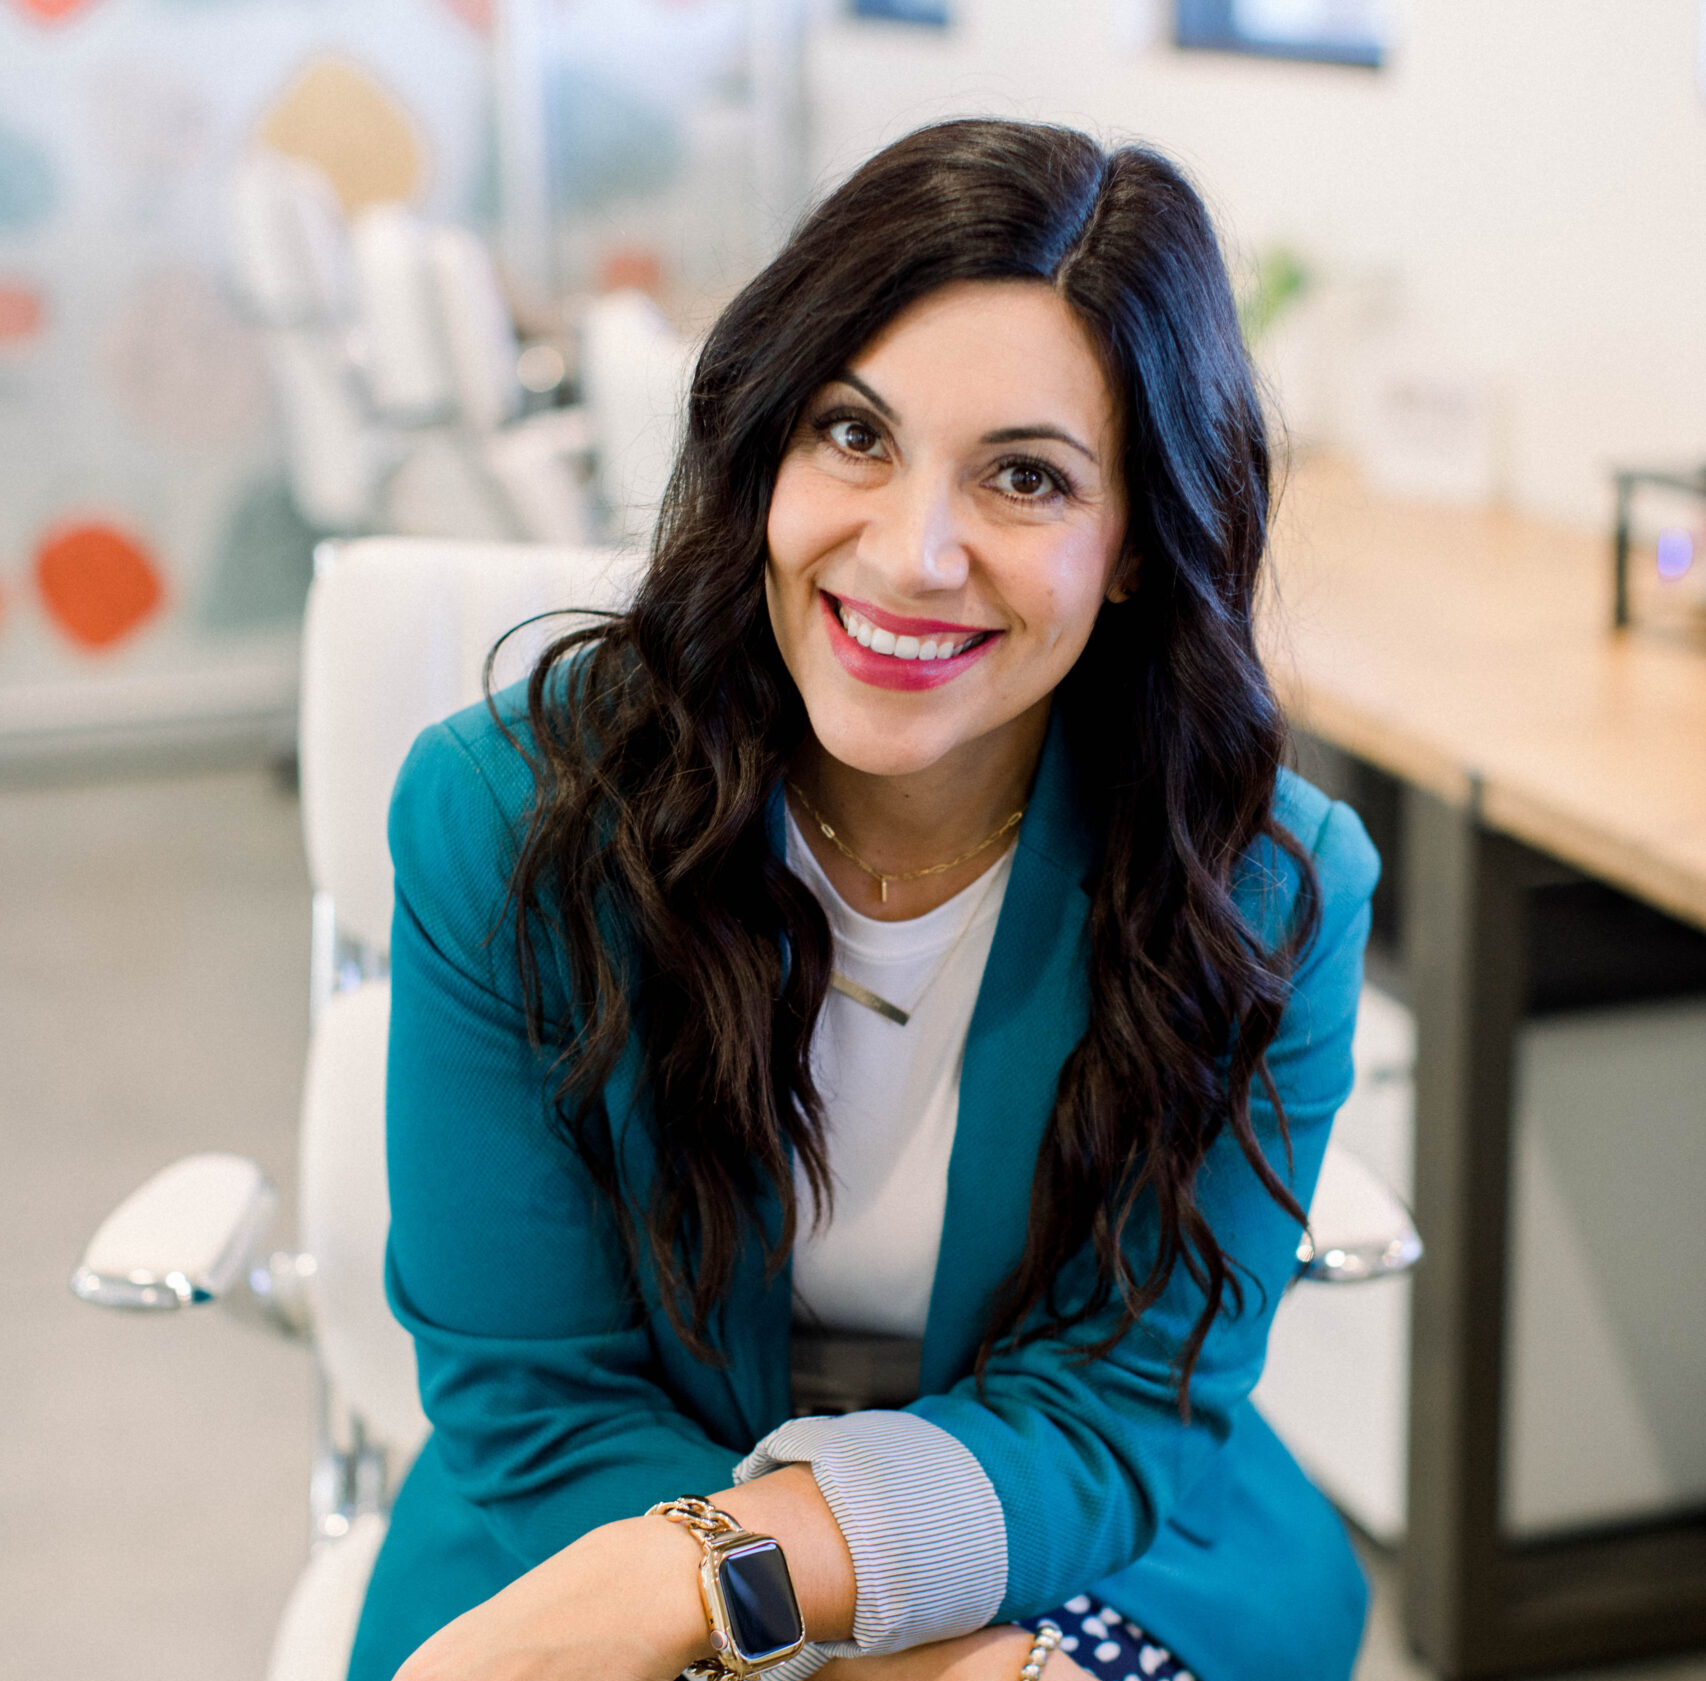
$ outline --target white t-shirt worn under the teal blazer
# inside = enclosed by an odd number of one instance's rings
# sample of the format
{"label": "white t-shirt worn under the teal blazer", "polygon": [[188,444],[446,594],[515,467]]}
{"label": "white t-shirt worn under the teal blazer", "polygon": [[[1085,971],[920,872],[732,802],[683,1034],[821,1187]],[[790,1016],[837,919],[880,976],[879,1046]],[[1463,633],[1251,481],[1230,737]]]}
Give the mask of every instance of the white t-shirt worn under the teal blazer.
{"label": "white t-shirt worn under the teal blazer", "polygon": [[834,966],[911,1014],[901,1027],[839,992],[824,998],[812,1077],[827,1118],[834,1219],[812,1230],[802,1174],[793,1244],[798,1323],[925,1335],[966,1031],[1012,865],[1008,846],[945,904],[906,922],[877,922],[836,893],[788,814],[788,869],[829,918]]}

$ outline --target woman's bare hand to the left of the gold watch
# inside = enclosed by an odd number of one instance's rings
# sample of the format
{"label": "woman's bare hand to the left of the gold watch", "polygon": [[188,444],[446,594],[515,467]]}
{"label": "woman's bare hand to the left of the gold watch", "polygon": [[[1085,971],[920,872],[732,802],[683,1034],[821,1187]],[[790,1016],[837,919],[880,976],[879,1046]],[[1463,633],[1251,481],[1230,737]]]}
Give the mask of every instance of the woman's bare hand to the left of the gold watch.
{"label": "woman's bare hand to the left of the gold watch", "polygon": [[698,1572],[681,1524],[604,1524],[440,1628],[396,1681],[674,1681],[711,1654]]}

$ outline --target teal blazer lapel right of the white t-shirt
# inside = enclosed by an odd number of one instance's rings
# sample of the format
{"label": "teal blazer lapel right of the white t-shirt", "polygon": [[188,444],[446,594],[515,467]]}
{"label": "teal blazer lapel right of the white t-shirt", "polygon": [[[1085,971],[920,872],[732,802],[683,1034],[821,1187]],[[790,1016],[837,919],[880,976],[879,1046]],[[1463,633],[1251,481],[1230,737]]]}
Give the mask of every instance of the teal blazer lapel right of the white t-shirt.
{"label": "teal blazer lapel right of the white t-shirt", "polygon": [[1018,829],[1013,874],[966,1036],[942,1251],[925,1326],[925,1394],[969,1369],[995,1288],[1025,1246],[1037,1149],[1088,1021],[1094,836],[1059,712]]}

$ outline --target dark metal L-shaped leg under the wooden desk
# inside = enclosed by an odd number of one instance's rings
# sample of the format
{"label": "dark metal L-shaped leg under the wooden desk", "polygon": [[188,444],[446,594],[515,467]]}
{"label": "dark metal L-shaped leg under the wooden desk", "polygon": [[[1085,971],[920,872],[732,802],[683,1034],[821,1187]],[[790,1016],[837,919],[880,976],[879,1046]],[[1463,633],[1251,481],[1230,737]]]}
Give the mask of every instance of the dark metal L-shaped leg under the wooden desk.
{"label": "dark metal L-shaped leg under the wooden desk", "polygon": [[1706,1645],[1699,1517],[1523,1546],[1500,1534],[1513,1046],[1525,894],[1546,860],[1418,788],[1404,848],[1428,1242],[1411,1317],[1411,1642],[1447,1681]]}

